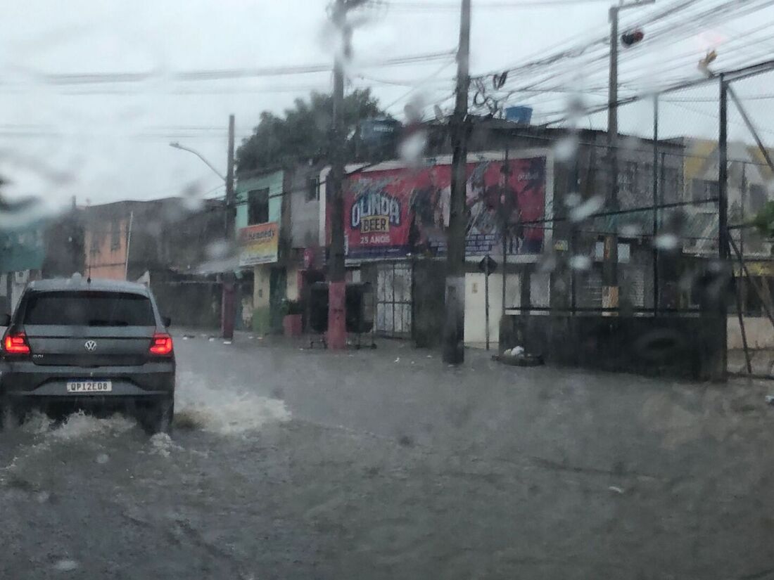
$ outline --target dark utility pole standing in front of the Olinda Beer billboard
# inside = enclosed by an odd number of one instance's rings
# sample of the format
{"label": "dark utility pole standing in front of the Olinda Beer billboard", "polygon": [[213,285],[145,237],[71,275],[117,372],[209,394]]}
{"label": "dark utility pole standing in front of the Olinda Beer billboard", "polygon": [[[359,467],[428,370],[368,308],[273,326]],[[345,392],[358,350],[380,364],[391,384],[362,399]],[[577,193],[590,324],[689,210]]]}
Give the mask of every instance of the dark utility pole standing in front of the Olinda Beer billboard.
{"label": "dark utility pole standing in front of the Olinda Beer billboard", "polygon": [[451,119],[451,200],[447,238],[444,362],[464,361],[465,184],[467,183],[467,91],[470,87],[471,0],[462,0],[457,50],[457,101]]}

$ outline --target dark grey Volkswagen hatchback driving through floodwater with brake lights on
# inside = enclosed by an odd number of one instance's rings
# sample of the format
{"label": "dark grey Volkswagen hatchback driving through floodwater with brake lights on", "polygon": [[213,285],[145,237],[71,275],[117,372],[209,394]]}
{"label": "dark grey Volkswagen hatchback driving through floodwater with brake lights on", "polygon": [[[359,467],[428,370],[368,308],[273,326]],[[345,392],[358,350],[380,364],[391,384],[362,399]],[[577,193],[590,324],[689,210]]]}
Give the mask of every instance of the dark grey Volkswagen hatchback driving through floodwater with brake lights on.
{"label": "dark grey Volkswagen hatchback driving through floodwater with brake lights on", "polygon": [[[2,322],[2,321],[0,321]],[[168,432],[175,356],[148,288],[74,278],[29,284],[2,339],[0,427],[28,411],[122,411]]]}

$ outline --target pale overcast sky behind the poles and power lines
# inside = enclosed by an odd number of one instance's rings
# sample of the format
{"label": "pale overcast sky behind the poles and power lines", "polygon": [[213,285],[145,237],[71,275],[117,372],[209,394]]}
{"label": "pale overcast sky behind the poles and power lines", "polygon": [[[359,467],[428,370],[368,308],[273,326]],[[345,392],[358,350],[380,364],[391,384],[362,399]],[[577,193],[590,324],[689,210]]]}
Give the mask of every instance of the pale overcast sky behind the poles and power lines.
{"label": "pale overcast sky behind the poles and power lines", "polygon": [[[567,39],[575,43],[591,41],[604,35],[608,26],[605,2],[514,7],[515,2],[499,1],[510,7],[488,8],[496,3],[491,0],[474,8],[474,73],[518,65],[545,55]],[[406,100],[416,94],[423,95],[430,111],[435,103],[450,111],[448,97],[454,86],[452,56],[402,67],[366,66],[389,58],[454,49],[459,14],[452,9],[421,9],[423,4],[435,2],[441,0],[392,5],[382,2],[368,12],[367,22],[361,24],[354,36],[354,56],[359,64],[351,70],[351,86],[372,86],[382,104],[391,104],[390,111],[398,116]],[[675,2],[659,0],[657,6]],[[718,2],[721,0],[700,0],[698,4]],[[221,193],[220,179],[206,165],[194,155],[170,148],[169,142],[179,141],[196,148],[225,171],[228,114],[236,115],[239,142],[249,135],[261,111],[279,113],[310,89],[330,90],[330,73],[196,81],[174,80],[171,76],[187,71],[330,63],[335,43],[327,25],[327,3],[6,3],[0,19],[0,174],[11,181],[7,193],[36,194],[57,201],[77,196],[79,203],[174,196],[192,185],[210,195]],[[627,11],[625,22],[636,22],[649,10],[654,8]],[[633,14],[637,11],[639,15]],[[635,49],[640,51],[639,56],[622,53],[622,82],[626,81],[630,90],[642,90],[642,77],[649,74],[673,78],[686,73],[698,77],[693,65],[684,71],[659,67],[676,49],[687,50],[687,62],[693,63],[711,46],[740,42],[737,56],[745,56],[750,62],[761,60],[767,50],[774,52],[774,41],[769,40],[767,45],[765,40],[770,29],[762,26],[774,16],[770,9],[764,12],[765,15],[759,13],[732,22],[733,26],[721,23],[690,31],[679,46],[669,46],[666,52],[661,49],[648,53],[643,43]],[[751,36],[750,31],[761,36]],[[646,30],[646,39],[647,34]],[[741,43],[740,39],[745,38],[748,40]],[[762,40],[751,43],[751,38]],[[721,50],[718,63],[724,58],[731,64],[728,52]],[[736,58],[733,64],[745,59]],[[627,60],[632,63],[628,69]],[[585,91],[587,102],[604,101],[606,65],[597,63],[594,70],[589,69],[588,74],[582,67],[574,72],[565,71],[566,76],[560,80]],[[92,73],[140,76],[99,83],[91,77],[45,80],[44,76]],[[768,83],[751,85],[748,92],[758,96],[765,93],[765,86],[771,86],[770,79]],[[420,93],[407,94],[412,87],[420,87]],[[697,102],[687,98],[664,104],[665,122],[672,132],[713,134],[717,125],[713,118],[716,104],[701,101],[712,97],[712,90],[687,95]],[[564,94],[524,94],[523,98],[512,97],[511,102],[529,102],[539,115],[563,107],[563,99]],[[754,111],[768,110],[771,102],[765,98],[755,100],[753,106],[758,108]],[[624,121],[629,126],[622,126],[622,130],[646,131],[652,123],[649,105],[638,107],[630,107],[628,121]],[[584,122],[596,122],[596,118]]]}

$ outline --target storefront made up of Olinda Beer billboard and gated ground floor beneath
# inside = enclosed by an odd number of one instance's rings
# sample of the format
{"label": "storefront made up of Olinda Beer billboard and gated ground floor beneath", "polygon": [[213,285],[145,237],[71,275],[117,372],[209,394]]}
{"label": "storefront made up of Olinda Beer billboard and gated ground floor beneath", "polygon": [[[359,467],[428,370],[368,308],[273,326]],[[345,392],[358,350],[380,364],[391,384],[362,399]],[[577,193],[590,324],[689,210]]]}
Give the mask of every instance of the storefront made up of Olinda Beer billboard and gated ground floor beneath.
{"label": "storefront made up of Olinda Beer billboard and gated ground floor beneath", "polygon": [[[508,162],[501,152],[476,158],[467,164],[465,340],[483,344],[485,303],[490,303],[490,326],[497,325],[502,312],[503,255],[510,286],[506,297],[520,297],[521,271],[529,270],[543,247],[551,244],[552,229],[540,220],[552,207],[553,159],[546,149],[512,153]],[[420,167],[385,162],[354,173],[344,187],[346,261],[360,278],[375,285],[377,332],[423,343],[440,336],[445,274],[433,264],[445,264],[450,218],[451,159],[434,161]],[[320,183],[325,183],[324,177]],[[321,202],[324,199],[321,195]],[[330,213],[324,203],[320,206],[326,226],[321,241],[328,245]],[[488,300],[477,268],[485,256],[499,264],[500,282],[491,277]],[[547,305],[550,277],[533,278],[533,302]],[[507,303],[506,308],[518,304]],[[497,333],[490,335],[496,341]]]}

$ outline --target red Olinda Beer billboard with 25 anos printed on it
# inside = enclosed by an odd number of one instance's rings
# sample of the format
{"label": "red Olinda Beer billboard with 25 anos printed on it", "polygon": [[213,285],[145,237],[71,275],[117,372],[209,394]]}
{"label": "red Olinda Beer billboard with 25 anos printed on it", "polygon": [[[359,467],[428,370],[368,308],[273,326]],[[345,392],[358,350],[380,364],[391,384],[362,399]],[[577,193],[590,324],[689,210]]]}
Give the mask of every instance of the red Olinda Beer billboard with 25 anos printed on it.
{"label": "red Olinda Beer billboard with 25 anos printed on it", "polygon": [[[546,178],[546,155],[510,159],[507,167],[502,159],[468,163],[466,255],[502,255],[503,237],[509,255],[543,251],[542,224],[522,223],[545,217]],[[351,176],[344,186],[347,259],[444,256],[450,193],[450,165]]]}

